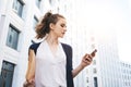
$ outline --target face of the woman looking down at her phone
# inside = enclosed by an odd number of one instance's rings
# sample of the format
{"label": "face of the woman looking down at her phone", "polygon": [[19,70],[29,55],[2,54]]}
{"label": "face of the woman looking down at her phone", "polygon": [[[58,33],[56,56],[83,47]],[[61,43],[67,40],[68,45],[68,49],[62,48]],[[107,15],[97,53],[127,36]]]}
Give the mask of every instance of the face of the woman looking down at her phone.
{"label": "face of the woman looking down at her phone", "polygon": [[63,37],[67,32],[67,22],[66,18],[59,17],[58,22],[51,27],[52,33],[59,38]]}

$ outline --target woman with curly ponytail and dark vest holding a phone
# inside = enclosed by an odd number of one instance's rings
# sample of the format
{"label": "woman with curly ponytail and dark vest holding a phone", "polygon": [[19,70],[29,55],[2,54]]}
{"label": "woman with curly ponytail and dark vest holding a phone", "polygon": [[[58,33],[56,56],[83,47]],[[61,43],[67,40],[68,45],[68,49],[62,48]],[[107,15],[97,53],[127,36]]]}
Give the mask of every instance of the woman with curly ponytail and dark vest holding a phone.
{"label": "woman with curly ponytail and dark vest holding a phone", "polygon": [[66,32],[67,22],[62,15],[50,12],[45,14],[36,26],[36,37],[45,39],[32,45],[28,51],[28,83],[35,82],[36,87],[74,87],[73,77],[91,64],[95,53],[86,53],[80,65],[73,70],[72,48],[59,41]]}

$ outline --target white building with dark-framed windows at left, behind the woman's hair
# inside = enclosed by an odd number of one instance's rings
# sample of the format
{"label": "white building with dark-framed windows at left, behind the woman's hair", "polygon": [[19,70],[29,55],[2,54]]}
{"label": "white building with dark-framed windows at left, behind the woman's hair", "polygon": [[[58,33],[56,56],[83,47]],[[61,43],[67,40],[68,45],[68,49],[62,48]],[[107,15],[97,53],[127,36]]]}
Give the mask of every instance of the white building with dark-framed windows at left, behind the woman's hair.
{"label": "white building with dark-framed windows at left, behind the woman's hair", "polygon": [[22,87],[35,25],[49,10],[66,15],[67,4],[59,0],[0,0],[0,86]]}

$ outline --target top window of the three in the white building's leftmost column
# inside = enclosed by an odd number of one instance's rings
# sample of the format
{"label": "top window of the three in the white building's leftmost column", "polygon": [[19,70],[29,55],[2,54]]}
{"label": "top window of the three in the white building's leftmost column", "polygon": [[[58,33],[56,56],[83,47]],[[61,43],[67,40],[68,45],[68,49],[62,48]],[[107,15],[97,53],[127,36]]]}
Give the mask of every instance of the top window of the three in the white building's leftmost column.
{"label": "top window of the three in the white building's leftmost column", "polygon": [[22,0],[14,0],[13,9],[20,15],[20,17],[22,17],[23,7],[24,7],[24,3],[22,2]]}

